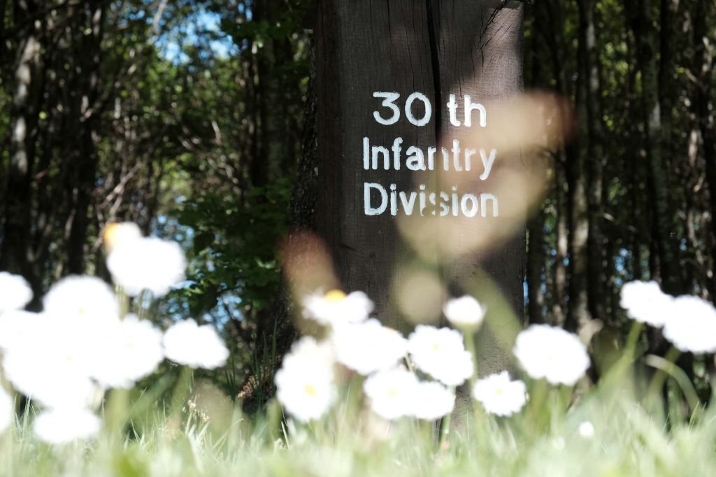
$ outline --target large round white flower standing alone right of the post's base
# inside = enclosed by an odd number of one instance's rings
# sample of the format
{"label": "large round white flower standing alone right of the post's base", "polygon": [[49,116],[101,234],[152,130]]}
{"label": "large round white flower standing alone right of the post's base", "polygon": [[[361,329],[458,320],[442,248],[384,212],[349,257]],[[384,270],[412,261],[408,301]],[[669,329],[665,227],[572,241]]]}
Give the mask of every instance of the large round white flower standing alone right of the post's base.
{"label": "large round white flower standing alone right of the post's base", "polygon": [[553,385],[574,385],[589,368],[586,347],[576,334],[533,324],[517,335],[513,353],[530,377]]}

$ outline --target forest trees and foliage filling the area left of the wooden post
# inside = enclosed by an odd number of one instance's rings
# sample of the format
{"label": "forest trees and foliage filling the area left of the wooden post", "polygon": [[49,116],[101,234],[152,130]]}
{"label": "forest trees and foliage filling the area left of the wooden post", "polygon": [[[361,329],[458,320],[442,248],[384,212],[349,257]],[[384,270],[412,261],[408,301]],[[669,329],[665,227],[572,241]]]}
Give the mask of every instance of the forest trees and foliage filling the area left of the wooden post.
{"label": "forest trees and foliage filling the area left of the wooden post", "polygon": [[41,297],[67,274],[108,278],[107,223],[178,240],[188,279],[155,306],[221,327],[243,380],[278,292],[308,4],[2,2],[0,268]]}

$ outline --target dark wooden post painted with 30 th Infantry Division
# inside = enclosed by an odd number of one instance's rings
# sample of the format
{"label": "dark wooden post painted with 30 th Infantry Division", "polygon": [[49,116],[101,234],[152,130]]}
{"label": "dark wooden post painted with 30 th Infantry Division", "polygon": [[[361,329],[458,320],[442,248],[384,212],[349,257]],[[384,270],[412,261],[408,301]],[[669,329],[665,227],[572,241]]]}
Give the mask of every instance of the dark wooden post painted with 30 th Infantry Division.
{"label": "dark wooden post painted with 30 th Infantry Division", "polygon": [[[523,314],[523,233],[494,244],[489,254],[481,251],[448,259],[440,249],[443,243],[435,242],[441,227],[436,222],[418,238],[409,234],[417,241],[425,238],[420,242],[425,245],[419,252],[421,259],[415,260],[412,249],[401,240],[397,218],[388,209],[369,213],[380,200],[378,188],[374,188],[377,195],[364,193],[371,192],[369,184],[377,184],[386,193],[395,185],[405,198],[419,190],[425,190],[426,196],[431,191],[437,195],[438,179],[413,173],[405,165],[397,170],[392,161],[385,170],[382,160],[377,168],[370,158],[368,167],[362,160],[364,138],[371,146],[388,149],[402,139],[403,158],[413,145],[423,151],[453,145],[458,130],[446,112],[451,94],[460,102],[463,95],[470,95],[473,103],[485,103],[519,92],[522,9],[521,2],[500,0],[319,3],[317,226],[332,251],[343,286],[366,291],[376,302],[378,316],[392,327],[410,329],[405,317],[437,319],[448,291],[473,291],[471,284],[480,280],[484,280],[480,281],[484,289],[487,281],[498,284],[508,303],[505,312]],[[375,119],[374,112],[384,120],[392,113],[374,92],[400,95],[395,101],[400,115],[397,122],[384,125]],[[424,95],[432,112],[426,115],[422,102],[415,101],[415,117],[427,116],[427,122],[420,125],[409,122],[404,112],[414,92]],[[462,124],[462,112],[460,117]],[[473,117],[477,121],[477,113]],[[419,189],[421,185],[424,189]],[[464,192],[470,191],[468,187],[473,186],[465,186]],[[408,215],[403,205],[397,210],[401,216]],[[430,209],[425,210],[430,218]],[[410,220],[421,221],[419,206],[415,211]],[[484,220],[470,220],[475,219]],[[470,233],[455,231],[450,238],[467,240]],[[485,274],[480,274],[480,269]],[[497,298],[500,293],[490,295]],[[511,339],[499,333],[499,327],[509,322],[495,323],[495,336],[500,340]],[[507,365],[494,342],[486,343],[483,352],[487,357],[481,372]]]}

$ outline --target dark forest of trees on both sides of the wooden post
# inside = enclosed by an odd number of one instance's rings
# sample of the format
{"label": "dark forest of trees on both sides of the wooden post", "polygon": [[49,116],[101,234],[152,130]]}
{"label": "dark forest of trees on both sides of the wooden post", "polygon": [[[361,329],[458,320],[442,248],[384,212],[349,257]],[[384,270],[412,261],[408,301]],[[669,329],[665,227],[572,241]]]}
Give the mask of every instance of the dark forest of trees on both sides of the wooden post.
{"label": "dark forest of trees on both sides of the wooden post", "polygon": [[[238,395],[286,319],[279,244],[313,225],[313,8],[0,0],[0,270],[42,297],[108,278],[107,223],[180,241],[187,279],[154,315],[216,324]],[[627,281],[716,302],[715,20],[712,0],[526,2],[526,89],[576,112],[528,223],[526,322],[609,348]],[[713,358],[682,360],[708,397]]]}

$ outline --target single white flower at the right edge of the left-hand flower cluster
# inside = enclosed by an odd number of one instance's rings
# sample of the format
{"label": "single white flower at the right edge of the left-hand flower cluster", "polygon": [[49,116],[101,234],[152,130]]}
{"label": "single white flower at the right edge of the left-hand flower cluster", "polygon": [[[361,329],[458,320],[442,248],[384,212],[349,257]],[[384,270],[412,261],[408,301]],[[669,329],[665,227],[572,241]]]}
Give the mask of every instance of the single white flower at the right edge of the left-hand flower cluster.
{"label": "single white flower at the right edge of the left-hand flower cluster", "polygon": [[180,365],[213,370],[226,364],[228,350],[213,326],[193,319],[173,324],[164,333],[164,355]]}

